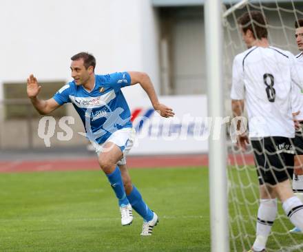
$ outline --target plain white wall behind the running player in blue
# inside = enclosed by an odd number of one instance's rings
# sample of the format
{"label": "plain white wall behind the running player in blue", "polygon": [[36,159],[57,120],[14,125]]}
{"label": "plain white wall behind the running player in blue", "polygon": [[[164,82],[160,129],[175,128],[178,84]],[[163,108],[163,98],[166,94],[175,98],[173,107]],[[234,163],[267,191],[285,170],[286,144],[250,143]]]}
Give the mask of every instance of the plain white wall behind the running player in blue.
{"label": "plain white wall behind the running player in blue", "polygon": [[[156,14],[149,1],[3,0],[1,10],[1,84],[25,82],[30,73],[40,81],[68,81],[70,56],[85,51],[96,56],[97,73],[145,71],[158,90]],[[138,95],[136,88],[127,92]]]}

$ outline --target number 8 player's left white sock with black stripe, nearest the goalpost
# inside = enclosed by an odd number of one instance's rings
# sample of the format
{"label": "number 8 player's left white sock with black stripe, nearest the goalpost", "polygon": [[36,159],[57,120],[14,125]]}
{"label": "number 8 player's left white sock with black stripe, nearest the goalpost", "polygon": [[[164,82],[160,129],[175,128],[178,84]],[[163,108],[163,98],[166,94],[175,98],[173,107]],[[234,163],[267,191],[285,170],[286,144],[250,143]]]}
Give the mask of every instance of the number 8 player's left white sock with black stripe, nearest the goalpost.
{"label": "number 8 player's left white sock with black stripe, nearest the goalpost", "polygon": [[277,199],[261,199],[258,209],[257,233],[253,250],[262,251],[267,244],[273,221],[277,215]]}

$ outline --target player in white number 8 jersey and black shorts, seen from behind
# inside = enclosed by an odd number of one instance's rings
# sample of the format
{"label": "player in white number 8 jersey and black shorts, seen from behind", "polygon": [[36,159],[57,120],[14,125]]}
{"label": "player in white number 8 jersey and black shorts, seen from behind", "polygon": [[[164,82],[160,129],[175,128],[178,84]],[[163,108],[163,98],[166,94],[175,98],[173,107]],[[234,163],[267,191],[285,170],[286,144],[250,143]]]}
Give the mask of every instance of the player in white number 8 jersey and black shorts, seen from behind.
{"label": "player in white number 8 jersey and black shorts, seen from behind", "polygon": [[303,204],[289,184],[295,136],[291,90],[294,83],[302,86],[303,80],[293,54],[269,45],[262,12],[244,13],[238,23],[249,49],[233,61],[231,103],[234,116],[241,116],[247,105],[249,136],[238,136],[238,145],[245,149],[251,141],[260,185],[256,238],[250,251],[265,251],[277,197],[291,222],[303,228]]}

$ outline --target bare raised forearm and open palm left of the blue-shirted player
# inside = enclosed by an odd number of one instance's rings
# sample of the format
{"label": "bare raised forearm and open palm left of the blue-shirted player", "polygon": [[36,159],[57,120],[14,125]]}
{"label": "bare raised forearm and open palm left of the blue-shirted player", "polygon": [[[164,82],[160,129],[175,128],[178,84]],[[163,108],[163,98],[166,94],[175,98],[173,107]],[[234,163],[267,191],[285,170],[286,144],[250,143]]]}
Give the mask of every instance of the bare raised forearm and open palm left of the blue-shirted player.
{"label": "bare raised forearm and open palm left of the blue-shirted player", "polygon": [[38,81],[34,75],[30,74],[27,79],[27,83],[28,98],[30,98],[32,105],[34,105],[34,108],[39,112],[39,114],[50,114],[50,112],[54,111],[54,109],[60,107],[54,98],[50,98],[46,101],[38,98],[41,86],[38,84]]}

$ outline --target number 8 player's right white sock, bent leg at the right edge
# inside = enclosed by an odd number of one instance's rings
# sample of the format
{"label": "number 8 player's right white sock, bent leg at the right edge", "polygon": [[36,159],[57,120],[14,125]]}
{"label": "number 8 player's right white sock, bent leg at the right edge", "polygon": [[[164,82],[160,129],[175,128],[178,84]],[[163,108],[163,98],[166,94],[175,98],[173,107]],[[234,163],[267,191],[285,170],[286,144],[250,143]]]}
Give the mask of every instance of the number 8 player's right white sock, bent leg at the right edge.
{"label": "number 8 player's right white sock, bent leg at the right edge", "polygon": [[285,200],[282,204],[284,212],[291,222],[303,230],[303,204],[299,198],[293,196]]}

